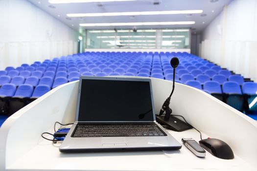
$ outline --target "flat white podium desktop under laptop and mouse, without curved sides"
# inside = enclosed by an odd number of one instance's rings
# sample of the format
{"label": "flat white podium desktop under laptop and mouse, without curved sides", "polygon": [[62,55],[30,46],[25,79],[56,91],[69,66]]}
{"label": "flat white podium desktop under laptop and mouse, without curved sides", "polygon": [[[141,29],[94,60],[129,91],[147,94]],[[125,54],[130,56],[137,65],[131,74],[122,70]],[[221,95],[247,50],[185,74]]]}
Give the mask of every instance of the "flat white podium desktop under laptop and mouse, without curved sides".
{"label": "flat white podium desktop under laptop and mouse, without curved sides", "polygon": [[[182,138],[200,140],[194,129],[183,132],[168,130],[179,142]],[[208,138],[203,134],[203,139]],[[214,138],[214,137],[213,137]],[[212,156],[206,151],[205,158],[199,158],[184,145],[181,150],[136,151],[136,152],[90,152],[61,153],[60,144],[43,138],[7,170],[21,171],[256,171],[235,154],[233,160]]]}

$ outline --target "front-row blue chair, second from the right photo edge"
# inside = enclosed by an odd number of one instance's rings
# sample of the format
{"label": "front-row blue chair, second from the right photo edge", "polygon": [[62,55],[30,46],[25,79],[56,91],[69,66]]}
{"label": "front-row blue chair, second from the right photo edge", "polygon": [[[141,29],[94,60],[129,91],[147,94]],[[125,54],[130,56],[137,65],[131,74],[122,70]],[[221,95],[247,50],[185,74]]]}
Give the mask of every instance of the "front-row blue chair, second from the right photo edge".
{"label": "front-row blue chair, second from the right photo edge", "polygon": [[223,93],[226,93],[226,103],[239,111],[244,110],[244,97],[240,85],[234,81],[228,81],[222,85]]}

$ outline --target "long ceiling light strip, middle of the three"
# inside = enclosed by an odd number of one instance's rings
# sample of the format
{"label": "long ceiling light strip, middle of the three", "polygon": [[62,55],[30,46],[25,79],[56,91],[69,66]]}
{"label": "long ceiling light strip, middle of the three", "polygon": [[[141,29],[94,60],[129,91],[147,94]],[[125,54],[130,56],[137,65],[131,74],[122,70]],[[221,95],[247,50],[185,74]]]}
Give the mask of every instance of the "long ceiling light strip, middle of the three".
{"label": "long ceiling light strip, middle of the three", "polygon": [[67,16],[68,17],[139,16],[139,15],[198,14],[202,12],[203,10],[142,11],[142,12],[115,12],[115,13],[78,13],[78,14],[67,14]]}

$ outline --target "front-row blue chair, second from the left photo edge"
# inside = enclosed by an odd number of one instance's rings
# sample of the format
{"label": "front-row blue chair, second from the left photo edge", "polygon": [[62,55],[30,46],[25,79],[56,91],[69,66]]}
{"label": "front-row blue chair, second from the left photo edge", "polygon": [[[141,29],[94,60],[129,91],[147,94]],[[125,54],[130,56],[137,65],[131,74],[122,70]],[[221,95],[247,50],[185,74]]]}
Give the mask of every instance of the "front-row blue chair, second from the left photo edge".
{"label": "front-row blue chair, second from the left photo edge", "polygon": [[19,85],[16,93],[9,102],[9,114],[13,114],[28,104],[28,99],[33,92],[32,85]]}

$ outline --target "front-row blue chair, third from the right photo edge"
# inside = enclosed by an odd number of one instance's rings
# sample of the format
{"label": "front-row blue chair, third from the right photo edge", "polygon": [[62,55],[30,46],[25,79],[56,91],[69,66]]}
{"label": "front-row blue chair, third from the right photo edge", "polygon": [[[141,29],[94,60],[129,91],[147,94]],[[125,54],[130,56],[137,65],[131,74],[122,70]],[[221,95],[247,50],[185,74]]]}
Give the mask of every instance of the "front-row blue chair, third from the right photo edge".
{"label": "front-row blue chair, third from the right photo edge", "polygon": [[224,101],[221,86],[218,82],[216,82],[216,81],[206,81],[203,85],[203,89],[210,92],[210,94],[213,97],[215,97],[215,98],[217,98],[221,101]]}

